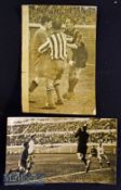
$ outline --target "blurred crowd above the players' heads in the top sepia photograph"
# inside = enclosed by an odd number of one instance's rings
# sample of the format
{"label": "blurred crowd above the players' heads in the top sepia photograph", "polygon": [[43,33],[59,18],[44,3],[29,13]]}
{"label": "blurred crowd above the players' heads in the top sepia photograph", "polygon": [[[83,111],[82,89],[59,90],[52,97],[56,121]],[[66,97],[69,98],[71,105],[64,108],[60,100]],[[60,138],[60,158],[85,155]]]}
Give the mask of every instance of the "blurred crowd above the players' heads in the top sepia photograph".
{"label": "blurred crowd above the players' heads in the top sepia photograph", "polygon": [[94,25],[95,24],[95,9],[86,7],[72,5],[30,5],[29,7],[29,23],[40,23],[41,17],[48,15],[52,20],[59,18],[65,23],[66,17],[73,20],[75,24],[79,25]]}

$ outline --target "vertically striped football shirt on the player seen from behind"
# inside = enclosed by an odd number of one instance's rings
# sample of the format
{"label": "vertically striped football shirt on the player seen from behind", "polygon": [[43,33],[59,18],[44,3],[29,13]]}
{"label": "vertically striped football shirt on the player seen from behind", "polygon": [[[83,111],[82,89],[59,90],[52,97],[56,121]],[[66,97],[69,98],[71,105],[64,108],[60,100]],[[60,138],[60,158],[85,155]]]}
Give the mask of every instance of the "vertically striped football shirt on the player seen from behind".
{"label": "vertically striped football shirt on the player seen from behind", "polygon": [[48,37],[46,42],[39,47],[38,51],[43,53],[51,50],[52,60],[65,60],[67,58],[67,42],[72,38],[67,37],[64,33],[55,33]]}

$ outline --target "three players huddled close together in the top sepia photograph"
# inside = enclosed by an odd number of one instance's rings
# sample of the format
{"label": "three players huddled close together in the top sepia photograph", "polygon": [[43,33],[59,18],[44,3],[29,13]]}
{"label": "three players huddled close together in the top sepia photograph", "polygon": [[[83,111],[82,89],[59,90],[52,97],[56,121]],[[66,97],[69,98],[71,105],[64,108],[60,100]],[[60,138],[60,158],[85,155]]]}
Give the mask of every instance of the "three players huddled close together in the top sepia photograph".
{"label": "three players huddled close together in the top sepia photograph", "polygon": [[[31,58],[36,77],[30,84],[29,92],[41,85],[41,78],[45,78],[46,103],[43,109],[56,109],[56,105],[64,104],[63,98],[70,100],[75,94],[81,69],[85,67],[88,61],[83,36],[75,28],[72,20],[66,18],[63,27],[60,21],[43,16],[41,26],[32,39]],[[62,96],[59,84],[66,65],[69,65],[68,90]],[[53,97],[54,90],[56,102]]]}

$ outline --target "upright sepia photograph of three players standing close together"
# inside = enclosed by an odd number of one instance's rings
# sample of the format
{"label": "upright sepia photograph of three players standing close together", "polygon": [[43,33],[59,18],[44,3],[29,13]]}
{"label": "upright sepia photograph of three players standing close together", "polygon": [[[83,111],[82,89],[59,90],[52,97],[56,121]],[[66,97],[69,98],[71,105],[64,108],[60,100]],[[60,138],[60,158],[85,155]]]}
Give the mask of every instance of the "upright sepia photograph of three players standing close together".
{"label": "upright sepia photograph of three players standing close together", "polygon": [[95,115],[96,7],[22,5],[24,113]]}

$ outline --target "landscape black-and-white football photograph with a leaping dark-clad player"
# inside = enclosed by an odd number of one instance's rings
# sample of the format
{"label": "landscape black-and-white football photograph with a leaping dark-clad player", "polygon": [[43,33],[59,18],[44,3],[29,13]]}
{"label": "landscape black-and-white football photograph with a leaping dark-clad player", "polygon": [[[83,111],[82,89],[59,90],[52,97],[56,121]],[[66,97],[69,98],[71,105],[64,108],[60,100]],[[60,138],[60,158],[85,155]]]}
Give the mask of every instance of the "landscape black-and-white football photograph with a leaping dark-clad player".
{"label": "landscape black-and-white football photograph with a leaping dark-clad player", "polygon": [[117,182],[117,119],[9,117],[4,185]]}

